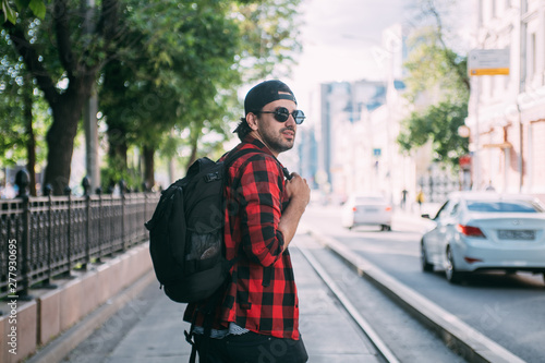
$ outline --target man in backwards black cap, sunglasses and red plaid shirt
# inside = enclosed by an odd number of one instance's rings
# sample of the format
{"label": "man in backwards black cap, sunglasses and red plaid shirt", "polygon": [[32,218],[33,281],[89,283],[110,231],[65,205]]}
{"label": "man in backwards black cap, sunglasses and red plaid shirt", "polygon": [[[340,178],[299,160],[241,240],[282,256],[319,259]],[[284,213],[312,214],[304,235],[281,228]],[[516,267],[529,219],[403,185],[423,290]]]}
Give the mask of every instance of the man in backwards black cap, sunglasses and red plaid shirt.
{"label": "man in backwards black cap, sunglasses and red plaid shirt", "polygon": [[306,362],[299,334],[299,300],[288,246],[310,201],[306,181],[284,179],[277,157],[293,147],[304,113],[280,81],[253,87],[245,117],[234,131],[241,143],[230,153],[252,149],[227,171],[226,256],[231,279],[215,306],[211,338],[204,338],[206,303],[190,304],[184,319],[195,322],[202,362]]}

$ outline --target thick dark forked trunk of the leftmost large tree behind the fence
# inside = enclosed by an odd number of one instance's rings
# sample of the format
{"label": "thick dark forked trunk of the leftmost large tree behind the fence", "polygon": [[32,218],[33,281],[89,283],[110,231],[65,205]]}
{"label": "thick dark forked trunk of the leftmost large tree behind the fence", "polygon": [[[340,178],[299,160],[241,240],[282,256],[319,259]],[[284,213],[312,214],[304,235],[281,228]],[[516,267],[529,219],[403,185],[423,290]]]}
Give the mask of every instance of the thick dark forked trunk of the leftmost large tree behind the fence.
{"label": "thick dark forked trunk of the leftmost large tree behind the fence", "polygon": [[[69,11],[68,0],[52,1],[52,37],[58,49],[59,61],[69,80],[69,87],[64,93],[56,88],[56,81],[51,77],[36,47],[26,39],[26,28],[21,23],[13,25],[4,22],[2,26],[9,32],[16,51],[23,58],[28,71],[36,78],[44,97],[51,107],[53,123],[47,132],[48,156],[45,183],[51,184],[53,194],[61,195],[70,182],[71,161],[74,147],[74,137],[77,123],[82,117],[84,101],[89,97],[93,82],[100,68],[98,59],[90,62],[81,61],[94,53],[75,55],[72,45],[71,22],[81,21],[78,15]],[[95,34],[106,41],[112,40],[118,22],[118,0],[102,1],[102,11],[98,19]],[[94,12],[94,9],[87,9]],[[75,17],[74,17],[75,16]],[[84,16],[84,19],[90,19]],[[82,56],[82,57],[80,57]],[[94,65],[92,65],[94,64]]]}

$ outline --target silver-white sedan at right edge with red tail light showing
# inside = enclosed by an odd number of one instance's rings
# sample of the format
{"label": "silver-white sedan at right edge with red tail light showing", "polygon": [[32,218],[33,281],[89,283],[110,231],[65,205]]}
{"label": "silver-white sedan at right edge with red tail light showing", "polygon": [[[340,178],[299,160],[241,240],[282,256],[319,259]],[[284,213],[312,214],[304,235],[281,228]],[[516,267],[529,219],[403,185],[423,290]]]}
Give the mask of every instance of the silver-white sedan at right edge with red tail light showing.
{"label": "silver-white sedan at right edge with red tail light showing", "polygon": [[531,271],[545,279],[545,206],[530,195],[456,192],[422,237],[424,271],[449,282],[482,270]]}

